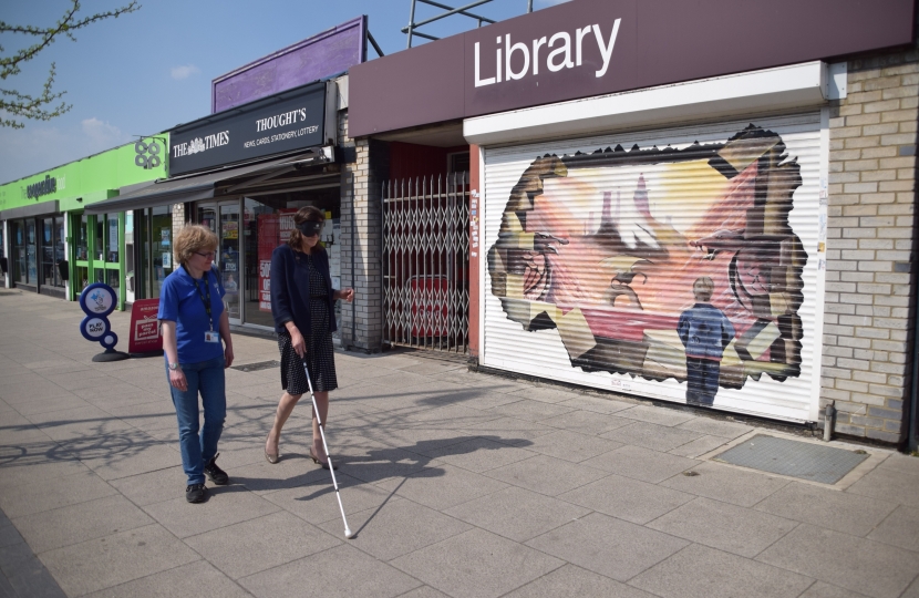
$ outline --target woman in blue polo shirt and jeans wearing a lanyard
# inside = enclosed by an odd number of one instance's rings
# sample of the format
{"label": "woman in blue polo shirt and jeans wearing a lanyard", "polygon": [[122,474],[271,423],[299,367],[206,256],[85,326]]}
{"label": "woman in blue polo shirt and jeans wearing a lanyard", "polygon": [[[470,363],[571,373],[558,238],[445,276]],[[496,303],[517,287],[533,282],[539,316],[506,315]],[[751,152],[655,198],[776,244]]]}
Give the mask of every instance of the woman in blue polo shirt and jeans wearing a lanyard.
{"label": "woman in blue polo shirt and jeans wearing a lanyard", "polygon": [[[207,499],[205,475],[214,484],[229,483],[217,466],[217,441],[227,412],[224,369],[233,364],[233,340],[224,310],[224,287],[214,269],[217,236],[189,225],[175,238],[173,256],[182,267],[166,277],[157,318],[163,328],[163,352],[169,391],[178,416],[182,466],[188,477],[185,498]],[[199,426],[198,394],[204,408]],[[199,433],[200,427],[200,433]]]}

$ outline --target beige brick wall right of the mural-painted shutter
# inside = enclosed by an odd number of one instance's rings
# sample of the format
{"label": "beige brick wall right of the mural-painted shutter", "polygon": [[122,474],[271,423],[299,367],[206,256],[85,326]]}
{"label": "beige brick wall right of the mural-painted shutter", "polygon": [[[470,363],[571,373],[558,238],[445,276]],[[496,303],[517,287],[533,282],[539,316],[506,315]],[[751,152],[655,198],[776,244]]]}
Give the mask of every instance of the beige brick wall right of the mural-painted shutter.
{"label": "beige brick wall right of the mural-painted shutter", "polygon": [[913,295],[919,52],[853,60],[829,120],[820,408],[836,432],[905,439]]}

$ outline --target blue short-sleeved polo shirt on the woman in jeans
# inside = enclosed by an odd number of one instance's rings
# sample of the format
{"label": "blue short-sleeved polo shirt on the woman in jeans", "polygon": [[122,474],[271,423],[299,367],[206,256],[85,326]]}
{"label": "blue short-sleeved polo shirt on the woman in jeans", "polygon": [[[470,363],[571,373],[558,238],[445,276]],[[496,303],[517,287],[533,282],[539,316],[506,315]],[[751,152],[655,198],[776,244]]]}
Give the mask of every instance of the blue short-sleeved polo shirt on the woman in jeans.
{"label": "blue short-sleeved polo shirt on the woman in jeans", "polygon": [[223,342],[205,342],[204,340],[204,333],[210,330],[210,322],[202,300],[202,296],[207,298],[205,281],[210,287],[210,315],[214,320],[214,331],[218,332],[226,291],[224,291],[217,268],[204,272],[204,278],[198,280],[192,278],[185,268],[176,268],[163,281],[163,289],[159,291],[159,312],[156,318],[176,323],[179,363],[198,363],[224,354]]}

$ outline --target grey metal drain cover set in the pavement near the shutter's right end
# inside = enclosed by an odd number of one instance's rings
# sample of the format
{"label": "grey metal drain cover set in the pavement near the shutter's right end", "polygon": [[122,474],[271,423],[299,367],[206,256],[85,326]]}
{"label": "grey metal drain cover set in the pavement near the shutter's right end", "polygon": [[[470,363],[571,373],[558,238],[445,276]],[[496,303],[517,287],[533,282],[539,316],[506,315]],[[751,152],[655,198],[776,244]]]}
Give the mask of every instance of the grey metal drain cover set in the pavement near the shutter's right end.
{"label": "grey metal drain cover set in the pavement near the shutter's right end", "polygon": [[866,458],[867,453],[764,434],[757,434],[714,457],[732,465],[823,484],[835,484]]}

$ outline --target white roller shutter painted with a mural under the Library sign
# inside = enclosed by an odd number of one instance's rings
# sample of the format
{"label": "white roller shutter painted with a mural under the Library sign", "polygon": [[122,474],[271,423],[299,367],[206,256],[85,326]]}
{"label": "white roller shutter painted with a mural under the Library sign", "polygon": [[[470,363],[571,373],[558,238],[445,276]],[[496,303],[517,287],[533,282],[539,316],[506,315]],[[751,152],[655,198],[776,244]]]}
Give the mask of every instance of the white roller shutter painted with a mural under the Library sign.
{"label": "white roller shutter painted with a mural under the Library sign", "polygon": [[485,148],[481,363],[815,420],[820,157],[819,113]]}

